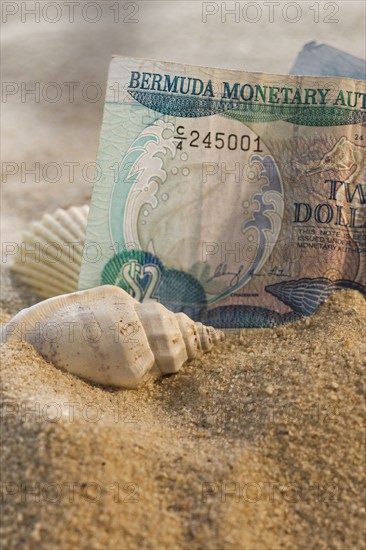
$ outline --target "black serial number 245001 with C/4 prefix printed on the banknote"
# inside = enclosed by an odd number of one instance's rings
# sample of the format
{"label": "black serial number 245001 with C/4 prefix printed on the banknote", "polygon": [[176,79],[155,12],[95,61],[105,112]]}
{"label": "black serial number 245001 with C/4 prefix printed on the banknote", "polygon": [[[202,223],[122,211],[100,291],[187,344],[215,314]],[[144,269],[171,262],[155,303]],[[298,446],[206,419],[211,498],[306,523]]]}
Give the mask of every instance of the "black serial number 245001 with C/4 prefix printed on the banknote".
{"label": "black serial number 245001 with C/4 prefix printed on the banknote", "polygon": [[261,149],[261,138],[258,136],[253,139],[247,134],[237,135],[237,134],[226,134],[225,132],[208,132],[203,135],[200,134],[197,130],[192,130],[188,135],[186,135],[184,126],[177,126],[176,133],[174,136],[177,143],[177,149],[183,149],[183,142],[187,140],[187,145],[189,147],[204,147],[205,149],[211,149],[212,147],[216,149],[229,149],[229,151],[250,151],[253,150],[254,153],[262,153]]}

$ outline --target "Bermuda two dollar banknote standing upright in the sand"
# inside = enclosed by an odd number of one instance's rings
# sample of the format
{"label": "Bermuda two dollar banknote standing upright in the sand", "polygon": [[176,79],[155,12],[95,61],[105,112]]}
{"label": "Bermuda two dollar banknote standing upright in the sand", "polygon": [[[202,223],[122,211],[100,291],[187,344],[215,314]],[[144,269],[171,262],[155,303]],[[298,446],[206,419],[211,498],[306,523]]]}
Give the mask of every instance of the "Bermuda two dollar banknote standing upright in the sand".
{"label": "Bermuda two dollar banknote standing upright in the sand", "polygon": [[366,87],[114,57],[79,288],[213,326],[366,295]]}

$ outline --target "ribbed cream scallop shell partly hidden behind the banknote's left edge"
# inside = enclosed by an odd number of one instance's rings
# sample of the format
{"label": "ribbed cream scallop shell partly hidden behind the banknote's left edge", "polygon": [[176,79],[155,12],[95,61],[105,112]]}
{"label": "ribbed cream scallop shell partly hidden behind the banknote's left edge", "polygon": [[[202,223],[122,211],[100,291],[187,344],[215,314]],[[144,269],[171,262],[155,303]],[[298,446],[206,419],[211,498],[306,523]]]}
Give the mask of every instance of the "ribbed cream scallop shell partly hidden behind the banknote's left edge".
{"label": "ribbed cream scallop shell partly hidden behind the banknote's left edge", "polygon": [[78,287],[89,206],[58,208],[22,235],[12,269],[44,298]]}

